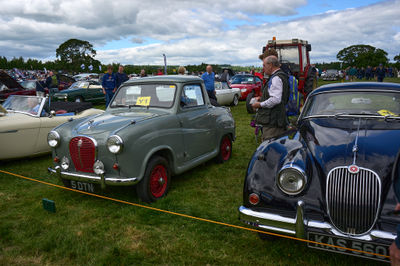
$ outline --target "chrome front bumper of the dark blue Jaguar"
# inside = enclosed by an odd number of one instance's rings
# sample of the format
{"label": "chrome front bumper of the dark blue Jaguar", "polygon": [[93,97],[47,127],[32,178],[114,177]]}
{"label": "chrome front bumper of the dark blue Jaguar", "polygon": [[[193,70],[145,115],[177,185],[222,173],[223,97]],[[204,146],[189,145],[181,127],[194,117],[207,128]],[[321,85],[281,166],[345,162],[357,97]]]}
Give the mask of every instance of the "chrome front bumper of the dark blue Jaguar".
{"label": "chrome front bumper of the dark blue Jaguar", "polygon": [[[313,231],[313,229],[326,234],[349,237],[348,235],[340,233],[330,223],[305,219],[303,201],[297,202],[296,217],[294,218],[284,217],[279,214],[268,212],[257,212],[244,206],[240,206],[239,219],[248,225],[258,227],[264,231],[295,236],[303,239],[306,239],[306,232]],[[351,238],[364,241],[373,241],[375,239],[386,239],[393,241],[396,238],[396,234],[380,230],[371,230],[367,234],[351,236]]]}

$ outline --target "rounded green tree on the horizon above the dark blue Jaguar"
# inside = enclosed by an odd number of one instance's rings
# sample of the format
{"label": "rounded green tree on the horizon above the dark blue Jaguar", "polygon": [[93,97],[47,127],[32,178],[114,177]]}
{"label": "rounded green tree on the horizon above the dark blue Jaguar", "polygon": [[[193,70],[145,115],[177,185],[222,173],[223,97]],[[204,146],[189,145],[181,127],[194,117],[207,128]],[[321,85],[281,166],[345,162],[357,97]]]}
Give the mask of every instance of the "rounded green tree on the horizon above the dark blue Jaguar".
{"label": "rounded green tree on the horizon above the dark blue Jaguar", "polygon": [[388,53],[382,49],[375,48],[371,45],[352,45],[339,51],[336,58],[343,62],[346,66],[377,66],[380,63],[387,64],[389,59]]}

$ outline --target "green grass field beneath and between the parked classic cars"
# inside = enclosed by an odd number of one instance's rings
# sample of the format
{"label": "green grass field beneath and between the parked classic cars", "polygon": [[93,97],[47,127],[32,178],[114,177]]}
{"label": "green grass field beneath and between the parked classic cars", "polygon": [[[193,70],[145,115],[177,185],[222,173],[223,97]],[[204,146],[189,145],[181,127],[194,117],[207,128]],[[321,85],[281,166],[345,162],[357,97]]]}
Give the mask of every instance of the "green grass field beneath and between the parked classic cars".
{"label": "green grass field beneath and between the parked classic cars", "polygon": [[[319,84],[320,85],[320,84]],[[212,161],[172,179],[152,207],[234,225],[247,163],[256,149],[245,103],[232,108],[232,159]],[[61,185],[47,173],[51,156],[0,162],[0,169]],[[105,196],[140,203],[131,187]],[[56,213],[42,208],[54,200]],[[0,173],[0,265],[376,265],[307,248],[288,239],[116,203]]]}

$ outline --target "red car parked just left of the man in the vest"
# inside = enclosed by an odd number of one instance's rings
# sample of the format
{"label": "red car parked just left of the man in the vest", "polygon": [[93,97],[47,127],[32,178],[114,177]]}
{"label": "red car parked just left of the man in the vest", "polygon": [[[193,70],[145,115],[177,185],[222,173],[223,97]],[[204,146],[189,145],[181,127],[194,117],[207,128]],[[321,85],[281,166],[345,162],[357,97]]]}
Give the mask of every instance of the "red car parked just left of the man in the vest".
{"label": "red car parked just left of the man in the vest", "polygon": [[254,75],[237,74],[232,77],[230,86],[240,89],[242,94],[240,100],[246,100],[247,96],[252,92],[252,97],[261,96],[262,80]]}

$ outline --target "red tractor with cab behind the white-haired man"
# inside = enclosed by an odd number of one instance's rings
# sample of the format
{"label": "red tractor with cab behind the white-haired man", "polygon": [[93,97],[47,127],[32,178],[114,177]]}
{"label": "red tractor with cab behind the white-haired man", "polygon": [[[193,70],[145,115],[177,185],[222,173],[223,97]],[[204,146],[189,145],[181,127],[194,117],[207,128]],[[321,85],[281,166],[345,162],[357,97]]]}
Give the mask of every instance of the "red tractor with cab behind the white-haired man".
{"label": "red tractor with cab behind the white-haired man", "polygon": [[[309,52],[311,51],[311,44],[299,39],[277,41],[273,37],[263,47],[262,52],[264,53],[271,48],[277,51],[279,62],[282,65],[281,68],[286,72],[289,70],[298,80],[299,92],[304,96],[305,100],[307,95],[317,86],[317,71],[315,67],[310,65]],[[260,95],[253,94],[246,99],[247,110],[249,112],[253,111],[251,106],[249,106],[249,101],[251,97],[256,96]]]}

